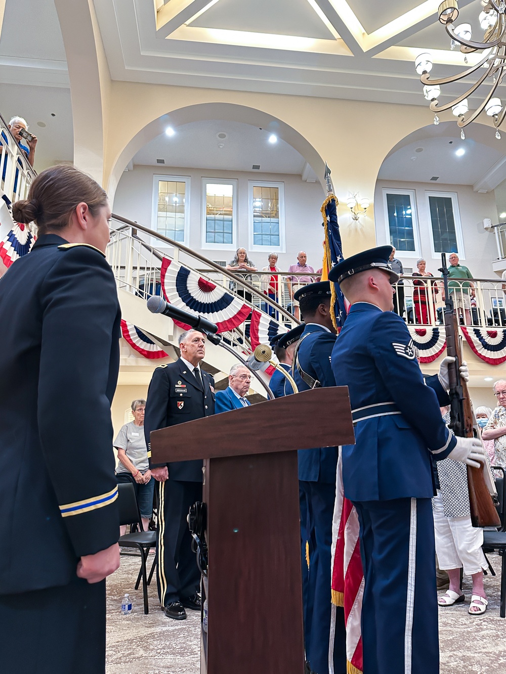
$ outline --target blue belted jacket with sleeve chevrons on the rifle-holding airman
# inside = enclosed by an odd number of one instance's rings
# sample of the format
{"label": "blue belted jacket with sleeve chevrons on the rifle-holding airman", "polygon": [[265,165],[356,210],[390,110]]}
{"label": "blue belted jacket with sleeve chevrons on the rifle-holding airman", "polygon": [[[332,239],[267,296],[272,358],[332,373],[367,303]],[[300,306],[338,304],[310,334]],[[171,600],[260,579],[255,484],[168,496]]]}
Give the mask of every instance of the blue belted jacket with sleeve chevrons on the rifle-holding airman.
{"label": "blue belted jacket with sleeve chevrons on the rifle-holding airman", "polygon": [[446,458],[456,440],[424,383],[401,317],[354,304],[335,343],[332,369],[337,386],[348,387],[352,411],[381,402],[392,403],[383,410],[397,410],[356,424],[355,444],[343,447],[345,495],[353,501],[432,497],[430,454]]}

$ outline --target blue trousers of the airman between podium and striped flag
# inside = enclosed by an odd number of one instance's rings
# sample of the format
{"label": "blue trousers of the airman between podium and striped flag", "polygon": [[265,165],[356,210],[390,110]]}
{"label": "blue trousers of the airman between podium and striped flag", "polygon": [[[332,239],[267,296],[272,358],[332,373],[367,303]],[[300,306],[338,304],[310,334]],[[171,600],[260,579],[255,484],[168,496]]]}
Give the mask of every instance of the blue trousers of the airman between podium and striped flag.
{"label": "blue trousers of the airman between podium and striped flag", "polygon": [[[312,671],[329,673],[331,631],[331,545],[335,483],[299,481],[306,493],[314,524],[315,551],[310,559],[305,632],[306,659]],[[337,609],[333,644],[334,674],[346,672],[346,634],[343,609]]]}

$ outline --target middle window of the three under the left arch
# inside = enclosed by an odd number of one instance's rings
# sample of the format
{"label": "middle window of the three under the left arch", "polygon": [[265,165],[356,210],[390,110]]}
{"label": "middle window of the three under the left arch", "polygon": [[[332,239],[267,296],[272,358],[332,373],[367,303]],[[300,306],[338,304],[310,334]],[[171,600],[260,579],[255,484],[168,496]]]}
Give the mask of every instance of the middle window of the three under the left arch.
{"label": "middle window of the three under the left arch", "polygon": [[202,178],[202,248],[235,250],[237,180]]}

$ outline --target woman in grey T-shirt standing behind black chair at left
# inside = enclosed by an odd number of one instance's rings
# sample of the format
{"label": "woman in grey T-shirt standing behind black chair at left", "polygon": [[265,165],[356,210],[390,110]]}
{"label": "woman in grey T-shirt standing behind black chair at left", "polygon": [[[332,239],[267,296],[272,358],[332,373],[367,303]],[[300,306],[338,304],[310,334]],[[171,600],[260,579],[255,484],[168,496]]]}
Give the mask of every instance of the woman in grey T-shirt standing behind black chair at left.
{"label": "woman in grey T-shirt standing behind black chair at left", "polygon": [[[121,427],[114,441],[114,446],[117,449],[117,458],[119,459],[116,479],[119,483],[131,482],[134,484],[142,526],[144,531],[147,531],[153,510],[154,480],[151,479],[148,450],[144,439],[145,408],[146,400],[134,400],[132,402],[134,421],[125,423]],[[123,536],[126,526],[121,526],[120,530],[121,536]]]}

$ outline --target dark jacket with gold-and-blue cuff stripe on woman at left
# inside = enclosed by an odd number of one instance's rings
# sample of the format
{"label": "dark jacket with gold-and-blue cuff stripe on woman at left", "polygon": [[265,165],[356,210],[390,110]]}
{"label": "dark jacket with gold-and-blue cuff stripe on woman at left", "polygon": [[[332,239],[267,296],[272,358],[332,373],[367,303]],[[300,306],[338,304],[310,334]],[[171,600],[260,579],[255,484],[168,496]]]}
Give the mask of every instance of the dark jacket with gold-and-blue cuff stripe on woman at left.
{"label": "dark jacket with gold-and-blue cuff stripe on woman at left", "polygon": [[111,267],[40,236],[0,280],[0,594],[65,585],[119,536]]}

